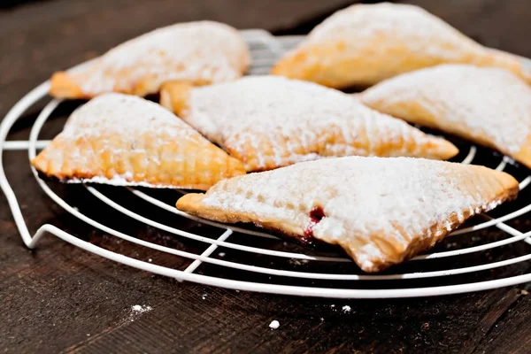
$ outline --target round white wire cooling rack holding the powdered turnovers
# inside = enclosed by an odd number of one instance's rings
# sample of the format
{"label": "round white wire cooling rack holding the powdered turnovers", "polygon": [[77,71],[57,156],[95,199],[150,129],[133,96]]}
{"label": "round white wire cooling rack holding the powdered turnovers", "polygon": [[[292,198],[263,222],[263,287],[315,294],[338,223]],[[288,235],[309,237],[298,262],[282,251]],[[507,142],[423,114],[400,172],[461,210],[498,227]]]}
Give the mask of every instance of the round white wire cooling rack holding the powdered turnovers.
{"label": "round white wire cooling rack holding the powdered turnovers", "polygon": [[[262,30],[242,31],[250,44],[253,58],[251,74],[269,71],[282,52],[293,47],[301,37],[273,37]],[[107,250],[95,242],[88,242],[50,224],[43,225],[32,236],[20,212],[19,202],[4,172],[2,155],[4,150],[27,150],[28,158],[34,158],[36,150],[45,147],[49,141],[38,140],[42,127],[54,112],[60,100],[51,100],[40,112],[31,129],[28,141],[6,141],[13,124],[32,105],[47,95],[49,81],[30,91],[12,107],[0,124],[0,186],[11,207],[19,233],[28,248],[35,248],[45,234],[55,235],[65,242],[88,250],[104,258],[127,266],[158,273],[181,281],[195,281],[206,285],[230,289],[250,290],[266,293],[324,296],[342,298],[384,298],[436,296],[456,294],[485,289],[495,289],[531,281],[529,260],[531,260],[531,231],[521,232],[506,224],[531,211],[527,185],[531,181],[529,170],[515,164],[510,158],[499,156],[491,150],[475,147],[466,142],[458,144],[461,151],[458,161],[464,164],[489,165],[496,170],[507,170],[519,178],[519,202],[503,205],[495,213],[473,219],[472,225],[454,232],[434,253],[420,255],[381,274],[364,274],[349,258],[341,253],[322,250],[307,250],[283,242],[281,239],[258,230],[232,227],[216,222],[198,219],[175,209],[174,202],[179,193],[152,191],[148,189],[108,188],[84,186],[94,203],[101,203],[115,212],[126,215],[131,222],[157,229],[164,236],[148,240],[127,235],[117,227],[107,224],[109,219],[97,220],[83,212],[83,208],[68,203],[54,191],[57,183],[47,183],[38,178],[35,181],[50,198],[66,212],[95,227],[104,235],[130,242],[136,248],[162,252],[166,256],[182,260],[181,266],[161,266],[149,261],[126,256]],[[12,176],[16,177],[16,176]],[[65,186],[63,186],[65,187]],[[82,187],[67,186],[66,189]],[[119,193],[117,194],[117,189]],[[167,198],[161,197],[161,193]],[[125,198],[125,199],[124,199]],[[129,207],[140,203],[136,209]],[[165,199],[168,199],[165,201]],[[127,200],[127,201],[124,201]],[[164,221],[158,215],[166,215]],[[122,216],[123,216],[122,215]],[[177,223],[167,221],[172,219]],[[191,221],[187,221],[187,219]],[[521,219],[521,218],[519,218]],[[184,221],[183,221],[184,220]],[[180,223],[193,224],[184,230]],[[525,224],[525,223],[524,223]],[[201,226],[204,227],[201,227]],[[503,232],[493,232],[499,229]],[[489,230],[488,232],[486,230]],[[180,240],[177,246],[168,245],[168,235]],[[496,237],[494,236],[496,235]],[[119,242],[121,242],[121,240]],[[188,247],[187,242],[194,242]],[[171,242],[170,242],[171,243]],[[138,254],[137,254],[138,255]],[[511,258],[507,258],[509,255]],[[401,273],[400,271],[404,271]]]}

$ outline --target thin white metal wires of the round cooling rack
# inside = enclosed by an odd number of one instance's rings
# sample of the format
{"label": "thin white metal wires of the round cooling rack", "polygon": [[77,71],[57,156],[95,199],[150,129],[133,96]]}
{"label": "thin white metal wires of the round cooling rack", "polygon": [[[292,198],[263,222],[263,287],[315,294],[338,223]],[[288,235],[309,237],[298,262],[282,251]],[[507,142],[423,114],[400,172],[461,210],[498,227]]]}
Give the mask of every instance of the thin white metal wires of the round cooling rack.
{"label": "thin white metal wires of the round cooling rack", "polygon": [[[273,64],[274,59],[278,58],[282,51],[286,48],[292,47],[300,38],[298,37],[286,37],[281,40],[275,39],[273,36],[269,35],[265,31],[261,30],[250,30],[242,31],[242,34],[250,44],[251,55],[253,57],[253,66],[251,67],[252,74],[263,74],[267,73],[270,65]],[[257,273],[260,275],[272,275],[282,278],[289,278],[291,281],[299,280],[314,280],[314,281],[381,281],[381,283],[386,283],[385,281],[399,281],[399,280],[420,280],[427,278],[439,278],[439,277],[449,277],[452,275],[466,274],[466,273],[477,273],[486,270],[493,270],[496,268],[504,266],[512,266],[520,262],[526,262],[531,260],[531,253],[525,254],[519,257],[499,260],[495,262],[489,262],[481,265],[474,266],[463,266],[459,268],[450,268],[443,270],[427,271],[427,272],[412,272],[412,273],[395,273],[395,274],[357,274],[357,273],[315,273],[315,272],[304,272],[301,270],[284,270],[277,269],[274,267],[266,266],[254,266],[243,262],[229,261],[219,258],[212,258],[212,253],[217,250],[219,247],[223,247],[227,250],[237,250],[246,252],[249,254],[254,254],[258,256],[265,256],[270,258],[288,258],[290,260],[300,260],[304,262],[324,262],[327,265],[335,266],[341,264],[350,264],[351,261],[349,258],[338,256],[320,256],[320,255],[310,255],[304,252],[293,252],[293,251],[284,251],[284,250],[271,250],[267,248],[262,248],[259,246],[249,246],[240,244],[238,242],[229,242],[228,239],[234,233],[240,233],[245,235],[251,235],[254,237],[266,238],[271,240],[278,240],[277,237],[273,235],[266,234],[264,232],[259,232],[256,230],[251,230],[243,227],[234,227],[220,224],[217,222],[204,220],[191,216],[185,212],[178,211],[175,209],[174,205],[166,204],[165,202],[159,200],[156,197],[150,196],[140,189],[127,188],[127,190],[135,197],[141,199],[143,202],[150,204],[152,207],[163,210],[165,212],[171,212],[178,217],[188,218],[196,222],[204,223],[211,227],[216,227],[220,229],[220,235],[212,239],[203,235],[196,235],[184,230],[181,230],[176,227],[171,227],[165,225],[156,220],[145,217],[138,212],[134,212],[128,209],[123,204],[113,200],[111,197],[106,196],[102,191],[93,187],[85,186],[89,193],[96,197],[102,203],[110,206],[112,209],[117,212],[121,212],[127,217],[140,221],[150,227],[155,227],[157,229],[163,230],[166,233],[173,234],[176,236],[184,237],[196,242],[203,242],[208,244],[208,247],[201,253],[196,254],[187,250],[178,250],[172,247],[163,246],[154,242],[143,241],[139,238],[136,238],[131,235],[126,235],[119,232],[118,230],[113,229],[112,227],[107,227],[104,224],[96,221],[95,219],[89,218],[87,215],[80,212],[73,205],[68,204],[64,199],[62,199],[58,194],[56,194],[50,186],[39,179],[35,168],[32,168],[32,172],[35,175],[35,181],[39,184],[42,190],[50,196],[50,198],[60,205],[66,212],[71,213],[74,217],[81,219],[92,227],[103,231],[106,234],[113,235],[119,239],[125,240],[127,242],[134,243],[135,245],[149,248],[150,250],[158,250],[165,252],[177,257],[186,258],[191,261],[189,266],[184,270],[173,269],[165,266],[158,266],[150,262],[144,262],[136,258],[130,258],[122,254],[112,252],[111,250],[106,250],[102,247],[96,246],[93,243],[86,242],[80,238],[68,234],[65,231],[54,227],[53,225],[46,224],[40,227],[35,235],[30,234],[25,220],[20,212],[19,203],[15,193],[13,192],[9,182],[4,173],[4,165],[2,161],[2,155],[4,150],[25,150],[28,151],[28,158],[35,158],[36,150],[42,149],[48,143],[47,141],[39,141],[38,136],[42,130],[42,127],[49,119],[50,114],[56,110],[58,105],[61,103],[60,100],[54,99],[47,104],[42,111],[40,112],[35,123],[31,129],[29,140],[27,142],[12,142],[6,141],[6,137],[17,119],[24,112],[27,111],[29,107],[35,104],[42,97],[46,96],[50,87],[49,81],[42,83],[37,88],[30,91],[27,96],[24,96],[19,103],[15,104],[12,107],[12,110],[8,112],[4,120],[0,124],[0,187],[4,190],[4,194],[7,198],[8,204],[12,210],[13,218],[15,219],[16,225],[19,228],[19,233],[22,237],[22,240],[27,245],[28,248],[35,248],[35,245],[39,242],[42,235],[49,233],[51,235],[56,235],[58,238],[64,240],[65,242],[70,242],[76,247],[80,247],[83,250],[89,250],[90,252],[95,253],[96,255],[102,256],[104,258],[109,258],[119,263],[122,263],[127,266],[133,266],[144,271],[151,273],[158,273],[160,275],[170,276],[182,281],[195,281],[203,283],[206,285],[219,286],[230,289],[241,289],[241,290],[250,290],[258,292],[267,292],[267,293],[276,293],[276,294],[286,294],[286,295],[297,295],[297,296],[326,296],[326,297],[349,297],[349,298],[382,298],[382,297],[412,297],[412,296],[435,296],[435,295],[445,295],[445,294],[456,294],[464,293],[470,291],[478,291],[485,289],[495,289],[504,286],[515,285],[527,281],[531,281],[531,273],[514,275],[511,277],[506,277],[502,279],[495,279],[489,281],[477,281],[470,283],[459,283],[452,285],[442,285],[442,286],[428,286],[428,287],[414,287],[414,288],[403,288],[403,289],[343,289],[336,287],[317,287],[317,286],[308,286],[307,284],[297,286],[297,285],[285,285],[278,284],[273,282],[258,282],[258,281],[242,281],[242,280],[233,280],[222,278],[218,276],[204,275],[201,273],[196,273],[196,270],[203,263],[214,266],[226,267],[227,269],[233,269],[238,271]],[[470,164],[476,158],[477,149],[474,146],[470,146],[466,157],[461,161],[463,164]],[[511,165],[512,160],[510,158],[502,158],[500,163],[496,165],[496,170],[503,171],[507,165]],[[526,170],[527,172],[527,170]],[[527,175],[526,178],[522,179],[519,182],[520,190],[523,190],[531,182],[531,175]],[[472,254],[475,252],[481,252],[486,250],[493,250],[498,247],[506,246],[514,242],[527,242],[531,244],[531,231],[527,233],[521,233],[513,227],[510,227],[504,224],[505,221],[515,219],[527,212],[531,211],[531,204],[527,204],[524,207],[519,208],[516,211],[505,213],[501,217],[490,218],[488,215],[485,215],[487,221],[481,222],[472,227],[465,227],[455,231],[452,235],[465,235],[472,233],[487,227],[497,227],[504,233],[510,235],[508,238],[504,238],[495,242],[488,242],[478,246],[460,248],[458,250],[447,250],[441,252],[435,252],[431,254],[420,255],[416,258],[412,258],[409,262],[422,261],[426,262],[430,259],[437,258],[452,258],[467,254]],[[352,285],[352,283],[349,283]],[[379,283],[380,284],[380,283]]]}

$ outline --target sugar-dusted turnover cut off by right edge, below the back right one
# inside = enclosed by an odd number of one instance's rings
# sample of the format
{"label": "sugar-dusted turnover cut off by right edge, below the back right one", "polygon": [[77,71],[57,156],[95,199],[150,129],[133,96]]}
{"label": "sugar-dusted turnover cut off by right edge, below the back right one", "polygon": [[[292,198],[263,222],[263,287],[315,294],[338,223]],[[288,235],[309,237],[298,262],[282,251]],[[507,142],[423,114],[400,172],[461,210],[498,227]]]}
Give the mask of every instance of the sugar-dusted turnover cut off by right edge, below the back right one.
{"label": "sugar-dusted turnover cut off by right edge, below the back right one", "polygon": [[531,88],[502,69],[439,65],[360,96],[373,109],[500,150],[531,167]]}

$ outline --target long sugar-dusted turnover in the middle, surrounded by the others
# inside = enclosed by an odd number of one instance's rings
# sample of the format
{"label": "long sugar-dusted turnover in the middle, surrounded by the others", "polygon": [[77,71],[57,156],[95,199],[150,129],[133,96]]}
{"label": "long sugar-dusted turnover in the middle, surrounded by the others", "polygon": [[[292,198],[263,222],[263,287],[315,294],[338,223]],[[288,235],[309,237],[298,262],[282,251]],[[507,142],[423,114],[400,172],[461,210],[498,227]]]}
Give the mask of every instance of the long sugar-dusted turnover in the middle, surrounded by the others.
{"label": "long sugar-dusted turnover in the middle, surrounded by the others", "polygon": [[201,88],[166,83],[160,96],[247,171],[349,155],[446,159],[458,153],[450,142],[312,82],[249,76]]}

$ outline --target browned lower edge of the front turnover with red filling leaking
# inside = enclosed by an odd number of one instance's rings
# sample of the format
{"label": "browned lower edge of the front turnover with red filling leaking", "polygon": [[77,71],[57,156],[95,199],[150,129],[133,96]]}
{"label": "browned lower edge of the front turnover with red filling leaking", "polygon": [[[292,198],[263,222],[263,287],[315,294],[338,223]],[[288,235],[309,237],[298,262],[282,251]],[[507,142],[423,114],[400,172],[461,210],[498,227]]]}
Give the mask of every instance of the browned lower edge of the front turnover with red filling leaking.
{"label": "browned lower edge of the front turnover with red filling leaking", "polygon": [[[516,181],[510,174],[504,173],[504,180],[502,181],[504,186],[506,185],[506,189],[504,189],[501,193],[499,193],[493,200],[497,200],[501,203],[504,203],[506,201],[510,201],[515,199],[518,196],[519,193],[519,184],[518,181]],[[279,224],[278,220],[276,219],[264,219],[263,216],[258,215],[256,212],[231,212],[226,210],[221,210],[219,208],[215,207],[208,207],[205,206],[202,201],[204,198],[204,194],[199,193],[189,193],[185,196],[181,196],[181,198],[177,201],[176,207],[182,212],[188,212],[192,215],[196,215],[203,219],[212,219],[223,223],[236,223],[236,222],[243,222],[243,223],[253,223],[257,227],[262,227],[267,230],[271,230],[274,233],[280,233],[281,235],[286,235],[288,237],[296,238],[297,240],[301,241],[302,243],[312,242],[311,239],[313,239],[313,236],[310,235],[304,235],[304,229],[296,225],[295,223],[289,223],[289,221],[285,221],[281,224]],[[489,206],[485,205],[481,208],[481,212],[488,212]],[[477,213],[470,212],[470,211],[462,211],[463,212],[463,218],[462,220],[459,220],[457,213],[452,213],[448,219],[445,220],[439,220],[435,224],[433,224],[431,227],[429,227],[429,230],[432,232],[431,235],[439,235],[438,237],[429,237],[429,238],[421,238],[421,235],[418,235],[414,237],[407,246],[406,250],[401,253],[400,258],[390,259],[386,261],[381,261],[380,263],[373,263],[373,266],[363,266],[360,263],[358,263],[356,257],[354,254],[350,253],[350,250],[346,247],[343,247],[343,250],[345,250],[350,257],[354,260],[354,262],[357,263],[357,265],[366,273],[375,273],[375,272],[381,272],[389,266],[394,266],[398,263],[404,262],[404,260],[407,260],[409,258],[414,257],[415,255],[419,254],[422,251],[428,250],[435,246],[437,242],[442,241],[447,235],[450,235],[452,231],[454,231],[456,228],[461,226],[466,219],[470,219]],[[447,223],[448,221],[450,223],[450,230],[448,230]],[[438,231],[438,233],[437,233]],[[301,240],[304,238],[304,240]],[[323,240],[319,240],[319,242],[324,242]],[[339,242],[327,242],[328,244],[338,244]],[[340,245],[341,246],[341,245]]]}

